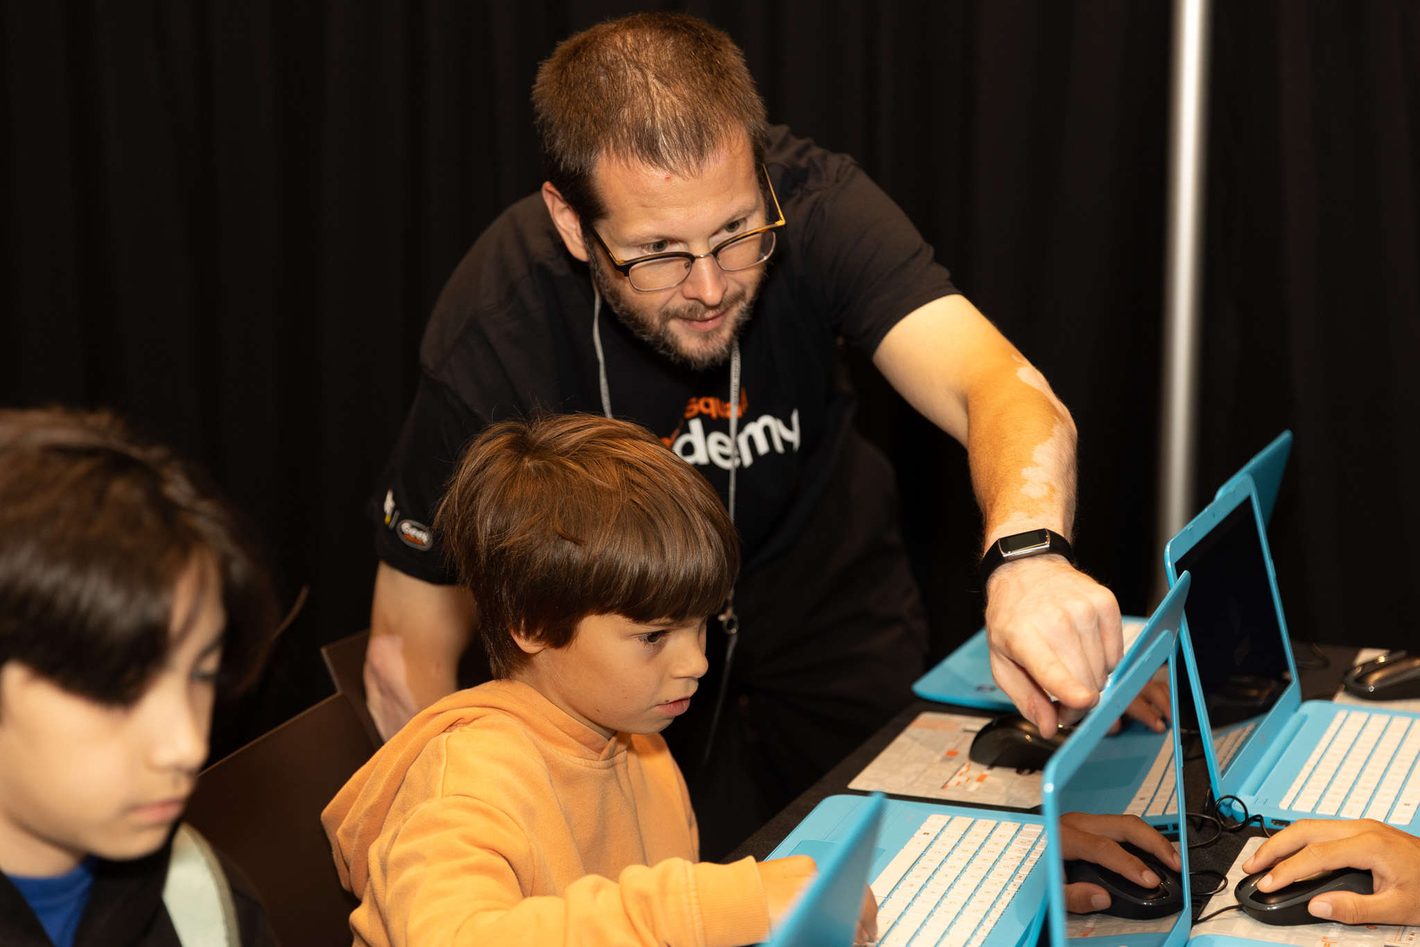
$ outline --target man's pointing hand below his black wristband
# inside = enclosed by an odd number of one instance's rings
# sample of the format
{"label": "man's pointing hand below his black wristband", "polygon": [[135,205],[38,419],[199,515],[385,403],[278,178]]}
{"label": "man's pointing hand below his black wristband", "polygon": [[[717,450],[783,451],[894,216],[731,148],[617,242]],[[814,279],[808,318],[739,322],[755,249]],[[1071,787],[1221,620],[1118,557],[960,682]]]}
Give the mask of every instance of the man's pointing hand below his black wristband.
{"label": "man's pointing hand below his black wristband", "polygon": [[1079,720],[1123,656],[1113,592],[1064,557],[1037,555],[997,568],[985,593],[997,686],[1041,733]]}

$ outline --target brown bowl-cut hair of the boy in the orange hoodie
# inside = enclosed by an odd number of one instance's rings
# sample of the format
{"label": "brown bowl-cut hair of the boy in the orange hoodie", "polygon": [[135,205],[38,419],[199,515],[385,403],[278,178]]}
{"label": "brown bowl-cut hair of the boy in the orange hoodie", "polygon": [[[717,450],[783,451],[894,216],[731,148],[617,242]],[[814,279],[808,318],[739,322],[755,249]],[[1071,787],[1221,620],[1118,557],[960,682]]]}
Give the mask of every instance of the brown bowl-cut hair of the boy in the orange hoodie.
{"label": "brown bowl-cut hair of the boy in the orange hoodie", "polygon": [[595,415],[486,429],[435,528],[498,677],[527,657],[514,629],[562,647],[588,615],[706,616],[740,571],[734,524],[706,478],[643,427]]}

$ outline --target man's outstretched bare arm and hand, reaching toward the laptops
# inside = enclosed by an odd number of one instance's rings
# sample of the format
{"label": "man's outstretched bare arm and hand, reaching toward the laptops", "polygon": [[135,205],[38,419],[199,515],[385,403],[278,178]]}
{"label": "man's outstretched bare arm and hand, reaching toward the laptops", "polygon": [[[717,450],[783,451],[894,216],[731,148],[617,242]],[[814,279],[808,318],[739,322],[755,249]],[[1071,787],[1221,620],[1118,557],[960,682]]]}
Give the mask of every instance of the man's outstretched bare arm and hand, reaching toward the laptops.
{"label": "man's outstretched bare arm and hand, reaching toward the laptops", "polygon": [[[1048,528],[1071,538],[1075,422],[1041,375],[966,297],[910,312],[873,354],[888,381],[966,444],[985,551],[1001,537]],[[1059,555],[997,568],[985,625],[995,683],[1041,730],[1092,707],[1123,653],[1113,593]]]}

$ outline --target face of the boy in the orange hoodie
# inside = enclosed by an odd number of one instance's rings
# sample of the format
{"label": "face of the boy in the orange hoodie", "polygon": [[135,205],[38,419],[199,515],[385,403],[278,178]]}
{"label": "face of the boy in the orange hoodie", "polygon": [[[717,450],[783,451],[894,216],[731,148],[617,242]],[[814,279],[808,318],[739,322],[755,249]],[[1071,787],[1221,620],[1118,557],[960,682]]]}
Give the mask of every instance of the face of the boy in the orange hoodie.
{"label": "face of the boy in the orange hoodie", "polygon": [[513,635],[530,659],[513,677],[611,738],[660,733],[690,707],[706,673],[706,620],[633,622],[589,615],[565,647]]}

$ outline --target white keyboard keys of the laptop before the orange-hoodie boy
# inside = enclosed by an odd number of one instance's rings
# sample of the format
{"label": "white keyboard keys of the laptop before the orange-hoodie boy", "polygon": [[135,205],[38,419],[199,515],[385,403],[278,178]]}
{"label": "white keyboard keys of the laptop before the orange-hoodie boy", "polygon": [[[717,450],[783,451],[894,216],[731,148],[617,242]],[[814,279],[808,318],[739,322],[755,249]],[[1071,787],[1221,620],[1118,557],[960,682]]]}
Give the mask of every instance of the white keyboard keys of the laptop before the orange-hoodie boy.
{"label": "white keyboard keys of the laptop before the orange-hoodie boy", "polygon": [[1039,825],[930,815],[872,883],[885,947],[978,947],[1045,852]]}

